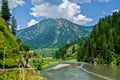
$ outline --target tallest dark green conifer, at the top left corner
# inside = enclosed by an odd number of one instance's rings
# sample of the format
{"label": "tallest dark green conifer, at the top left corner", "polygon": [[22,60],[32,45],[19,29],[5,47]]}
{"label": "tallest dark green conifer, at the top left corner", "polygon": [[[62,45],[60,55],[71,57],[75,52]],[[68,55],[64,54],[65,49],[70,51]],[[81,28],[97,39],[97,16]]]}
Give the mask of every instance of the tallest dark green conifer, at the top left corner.
{"label": "tallest dark green conifer, at the top left corner", "polygon": [[9,22],[10,20],[10,11],[9,11],[9,6],[8,6],[8,1],[7,0],[2,0],[2,6],[1,6],[1,16]]}

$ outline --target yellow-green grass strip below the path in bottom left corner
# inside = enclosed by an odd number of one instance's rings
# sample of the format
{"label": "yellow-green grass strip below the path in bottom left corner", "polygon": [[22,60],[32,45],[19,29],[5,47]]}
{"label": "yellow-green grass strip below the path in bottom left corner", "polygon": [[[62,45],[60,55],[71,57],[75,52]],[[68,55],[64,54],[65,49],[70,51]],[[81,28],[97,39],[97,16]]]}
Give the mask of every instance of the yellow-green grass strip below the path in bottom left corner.
{"label": "yellow-green grass strip below the path in bottom left corner", "polygon": [[40,71],[32,69],[0,70],[0,80],[46,80]]}

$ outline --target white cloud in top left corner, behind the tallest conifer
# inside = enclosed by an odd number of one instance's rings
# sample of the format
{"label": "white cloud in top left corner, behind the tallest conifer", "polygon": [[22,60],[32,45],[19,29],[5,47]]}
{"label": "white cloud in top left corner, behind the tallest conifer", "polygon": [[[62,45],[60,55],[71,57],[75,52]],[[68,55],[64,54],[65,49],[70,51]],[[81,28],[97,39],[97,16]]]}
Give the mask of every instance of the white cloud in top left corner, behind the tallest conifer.
{"label": "white cloud in top left corner, behind the tallest conifer", "polygon": [[[10,9],[16,8],[17,6],[22,6],[25,4],[24,0],[8,0],[8,5]],[[2,0],[0,0],[0,6],[2,5]]]}

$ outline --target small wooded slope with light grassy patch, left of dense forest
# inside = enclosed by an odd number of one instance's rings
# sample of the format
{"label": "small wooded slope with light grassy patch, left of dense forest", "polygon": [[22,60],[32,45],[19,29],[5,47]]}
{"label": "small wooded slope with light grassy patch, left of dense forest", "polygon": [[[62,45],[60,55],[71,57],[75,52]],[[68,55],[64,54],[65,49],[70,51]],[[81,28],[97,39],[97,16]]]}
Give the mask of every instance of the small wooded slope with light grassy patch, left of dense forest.
{"label": "small wooded slope with light grassy patch, left of dense forest", "polygon": [[81,37],[75,42],[68,43],[66,45],[63,45],[59,48],[59,50],[55,53],[56,59],[76,59],[77,53],[79,53],[79,49],[81,44],[84,42],[86,37]]}

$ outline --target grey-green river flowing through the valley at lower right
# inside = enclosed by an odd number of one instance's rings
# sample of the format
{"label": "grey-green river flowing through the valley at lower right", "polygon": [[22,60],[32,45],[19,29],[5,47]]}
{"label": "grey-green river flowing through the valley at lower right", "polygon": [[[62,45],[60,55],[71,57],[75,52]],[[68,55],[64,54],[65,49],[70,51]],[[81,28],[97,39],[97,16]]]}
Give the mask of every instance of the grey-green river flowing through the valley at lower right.
{"label": "grey-green river flowing through the valley at lower right", "polygon": [[42,70],[43,76],[48,80],[120,80],[120,66],[111,67],[108,65],[91,65],[85,63],[81,68],[81,62],[62,63],[70,64],[70,66],[50,70],[50,68],[58,64],[49,65]]}

